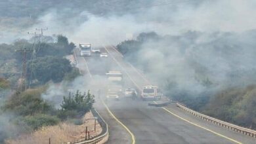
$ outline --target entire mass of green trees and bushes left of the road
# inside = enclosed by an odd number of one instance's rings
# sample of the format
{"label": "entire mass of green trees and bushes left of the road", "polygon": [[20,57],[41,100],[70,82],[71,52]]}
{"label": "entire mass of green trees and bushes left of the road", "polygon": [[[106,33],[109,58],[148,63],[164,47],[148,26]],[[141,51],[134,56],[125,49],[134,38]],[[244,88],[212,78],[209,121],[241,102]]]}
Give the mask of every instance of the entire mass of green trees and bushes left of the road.
{"label": "entire mass of green trees and bushes left of the road", "polygon": [[[22,54],[27,53],[27,82],[30,89],[20,91]],[[63,96],[62,105],[43,99],[49,84],[68,83],[79,77],[79,70],[65,57],[73,54],[74,43],[63,35],[19,39],[0,45],[0,143],[60,122],[81,124],[81,117],[93,107],[94,96],[79,90]],[[35,49],[35,58],[32,52]],[[64,94],[65,95],[65,94]],[[8,122],[8,124],[6,124]]]}

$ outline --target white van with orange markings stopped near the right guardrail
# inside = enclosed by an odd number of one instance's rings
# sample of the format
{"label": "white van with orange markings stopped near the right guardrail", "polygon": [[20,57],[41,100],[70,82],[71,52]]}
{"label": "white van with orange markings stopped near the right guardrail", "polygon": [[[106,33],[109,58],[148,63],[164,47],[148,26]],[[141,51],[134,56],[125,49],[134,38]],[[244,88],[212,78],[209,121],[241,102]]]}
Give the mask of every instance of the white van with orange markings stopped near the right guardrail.
{"label": "white van with orange markings stopped near the right guardrail", "polygon": [[142,89],[141,98],[143,100],[157,100],[161,99],[161,96],[163,96],[163,93],[158,88],[158,86],[144,86]]}

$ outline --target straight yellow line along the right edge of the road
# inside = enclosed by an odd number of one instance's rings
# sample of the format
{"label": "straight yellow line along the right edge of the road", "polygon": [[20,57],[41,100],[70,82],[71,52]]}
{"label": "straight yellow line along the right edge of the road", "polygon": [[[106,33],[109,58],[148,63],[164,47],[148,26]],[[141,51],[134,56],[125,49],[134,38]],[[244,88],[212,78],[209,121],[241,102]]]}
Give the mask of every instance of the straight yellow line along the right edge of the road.
{"label": "straight yellow line along the right edge of the road", "polygon": [[[156,101],[154,101],[154,103],[157,104]],[[219,134],[219,133],[217,133],[217,132],[214,132],[213,130],[209,130],[208,128],[205,128],[205,127],[203,127],[203,126],[200,126],[199,124],[195,124],[194,122],[190,122],[189,120],[186,120],[185,118],[179,117],[179,115],[176,115],[175,113],[169,111],[169,110],[166,109],[165,107],[161,107],[161,108],[164,109],[165,111],[167,111],[168,113],[170,113],[171,115],[174,115],[175,117],[180,118],[181,120],[184,120],[184,121],[186,121],[186,122],[188,122],[188,123],[190,123],[190,124],[192,124],[192,125],[194,125],[194,126],[198,126],[199,128],[202,128],[203,130],[207,130],[208,132],[211,132],[211,133],[213,133],[213,134],[219,135],[220,137],[224,137],[225,139],[228,139],[228,140],[230,140],[230,141],[233,141],[234,143],[242,144],[241,142],[236,141],[236,140],[234,140],[234,139],[232,139],[232,138],[230,138],[230,137],[227,137],[227,136],[225,136],[225,135],[222,135],[222,134]]]}

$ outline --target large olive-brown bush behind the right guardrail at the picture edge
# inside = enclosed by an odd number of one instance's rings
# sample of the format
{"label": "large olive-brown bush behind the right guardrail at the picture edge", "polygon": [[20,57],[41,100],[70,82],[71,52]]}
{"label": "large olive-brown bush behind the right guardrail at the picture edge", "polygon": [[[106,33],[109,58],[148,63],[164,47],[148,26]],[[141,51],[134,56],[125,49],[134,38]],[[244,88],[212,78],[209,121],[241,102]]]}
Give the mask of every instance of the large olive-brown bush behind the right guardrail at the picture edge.
{"label": "large olive-brown bush behind the right guardrail at the picture edge", "polygon": [[256,86],[228,88],[210,99],[203,113],[256,129]]}

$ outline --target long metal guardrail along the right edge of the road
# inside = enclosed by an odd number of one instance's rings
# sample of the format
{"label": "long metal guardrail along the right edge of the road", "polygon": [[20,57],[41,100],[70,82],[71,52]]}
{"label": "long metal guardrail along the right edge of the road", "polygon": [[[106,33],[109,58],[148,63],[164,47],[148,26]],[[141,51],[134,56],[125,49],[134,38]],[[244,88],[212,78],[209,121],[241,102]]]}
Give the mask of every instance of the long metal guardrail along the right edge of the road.
{"label": "long metal guardrail along the right edge of the road", "polygon": [[207,120],[209,122],[213,122],[214,124],[218,124],[219,126],[223,126],[225,128],[229,128],[230,130],[234,130],[236,132],[240,132],[244,135],[249,135],[251,137],[256,138],[256,131],[250,130],[248,128],[243,128],[241,126],[236,126],[235,124],[230,124],[228,122],[224,122],[223,120],[218,120],[217,118],[209,117],[207,115],[203,115],[202,113],[198,113],[196,111],[193,111],[192,109],[188,109],[188,107],[185,107],[181,103],[176,103],[177,107],[180,107],[184,111],[187,111],[188,113],[191,113],[192,115],[202,118],[203,120]]}

